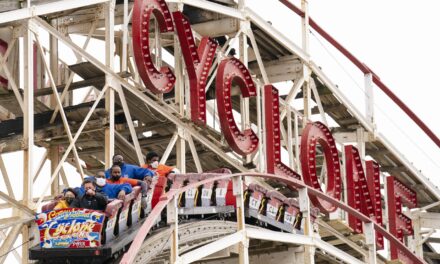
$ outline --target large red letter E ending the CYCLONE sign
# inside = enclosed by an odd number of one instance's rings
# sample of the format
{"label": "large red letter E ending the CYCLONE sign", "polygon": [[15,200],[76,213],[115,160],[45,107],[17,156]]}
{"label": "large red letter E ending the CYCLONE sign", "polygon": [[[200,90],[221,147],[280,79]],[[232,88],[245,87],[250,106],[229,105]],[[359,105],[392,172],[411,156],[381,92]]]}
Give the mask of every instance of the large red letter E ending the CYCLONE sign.
{"label": "large red letter E ending the CYCLONE sign", "polygon": [[[417,194],[393,176],[387,177],[389,231],[403,242],[403,235],[412,235],[411,219],[402,214],[402,204],[408,208],[417,207]],[[390,244],[391,259],[406,259],[395,245]]]}

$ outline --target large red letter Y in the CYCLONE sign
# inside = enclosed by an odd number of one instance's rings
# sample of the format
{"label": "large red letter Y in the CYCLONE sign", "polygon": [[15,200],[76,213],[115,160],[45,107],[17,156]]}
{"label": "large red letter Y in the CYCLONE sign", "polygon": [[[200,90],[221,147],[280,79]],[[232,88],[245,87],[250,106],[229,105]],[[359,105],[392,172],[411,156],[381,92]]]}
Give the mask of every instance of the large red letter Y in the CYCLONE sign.
{"label": "large red letter Y in the CYCLONE sign", "polygon": [[185,60],[191,91],[191,119],[194,123],[206,123],[206,93],[209,69],[217,49],[217,43],[203,37],[198,50],[194,43],[191,27],[181,12],[173,12],[180,47]]}

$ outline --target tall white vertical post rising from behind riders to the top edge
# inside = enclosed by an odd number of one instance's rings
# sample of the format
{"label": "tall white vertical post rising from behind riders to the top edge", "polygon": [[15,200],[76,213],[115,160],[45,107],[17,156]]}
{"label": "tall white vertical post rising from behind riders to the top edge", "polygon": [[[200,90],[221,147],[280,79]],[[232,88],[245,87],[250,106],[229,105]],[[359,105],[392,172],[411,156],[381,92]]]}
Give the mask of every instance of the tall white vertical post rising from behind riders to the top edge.
{"label": "tall white vertical post rising from behind riders to the top edge", "polygon": [[[113,71],[113,52],[115,49],[115,1],[105,4],[105,66]],[[109,168],[115,151],[115,90],[111,87],[111,78],[106,75],[108,89],[105,94],[105,110],[108,113],[108,127],[105,128],[105,167]]]}

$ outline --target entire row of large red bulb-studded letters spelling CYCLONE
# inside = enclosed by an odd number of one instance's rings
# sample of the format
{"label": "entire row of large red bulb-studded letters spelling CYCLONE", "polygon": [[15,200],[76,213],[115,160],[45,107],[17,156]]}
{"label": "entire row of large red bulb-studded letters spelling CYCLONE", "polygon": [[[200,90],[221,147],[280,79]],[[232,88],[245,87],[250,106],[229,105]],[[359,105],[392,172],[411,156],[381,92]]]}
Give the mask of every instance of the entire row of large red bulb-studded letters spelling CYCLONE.
{"label": "entire row of large red bulb-studded letters spelling CYCLONE", "polygon": [[[266,84],[262,90],[265,138],[264,141],[260,141],[258,133],[251,127],[240,129],[234,117],[232,88],[239,91],[242,98],[257,97],[259,91],[246,65],[229,55],[216,58],[219,44],[210,37],[202,36],[197,47],[189,19],[181,11],[171,12],[165,0],[134,0],[132,12],[133,53],[139,75],[147,89],[154,94],[169,93],[177,81],[169,67],[156,67],[153,63],[150,51],[150,19],[154,16],[160,33],[174,32],[179,39],[187,73],[185,77],[189,81],[190,116],[194,124],[201,129],[206,126],[206,85],[210,72],[213,72],[213,60],[216,59],[218,67],[213,75],[217,113],[221,132],[231,150],[238,155],[251,155],[258,151],[259,144],[264,144],[265,153],[259,154],[264,155],[266,172],[296,178],[318,190],[320,195],[309,193],[309,197],[321,213],[329,215],[338,208],[334,202],[323,199],[322,194],[340,201],[343,191],[346,191],[347,195],[344,198],[347,205],[354,209],[349,212],[348,217],[348,224],[354,232],[364,232],[362,221],[358,219],[359,213],[373,220],[381,228],[384,227],[378,163],[366,161],[364,170],[361,155],[352,145],[343,146],[344,155],[340,157],[331,130],[321,122],[308,122],[301,133],[301,142],[296,143],[300,146],[298,161],[301,164],[301,174],[294,171],[281,159],[281,132],[284,120],[278,89]],[[325,160],[325,169],[321,171],[318,170],[318,154],[323,155]],[[412,235],[414,230],[411,219],[402,213],[402,205],[409,209],[416,208],[417,192],[393,176],[388,176],[383,185],[388,196],[383,200],[386,201],[384,208],[387,211],[389,234],[402,243],[389,240],[391,259],[408,262],[401,248],[405,243],[405,236]],[[376,249],[382,248],[384,237],[376,230]]]}

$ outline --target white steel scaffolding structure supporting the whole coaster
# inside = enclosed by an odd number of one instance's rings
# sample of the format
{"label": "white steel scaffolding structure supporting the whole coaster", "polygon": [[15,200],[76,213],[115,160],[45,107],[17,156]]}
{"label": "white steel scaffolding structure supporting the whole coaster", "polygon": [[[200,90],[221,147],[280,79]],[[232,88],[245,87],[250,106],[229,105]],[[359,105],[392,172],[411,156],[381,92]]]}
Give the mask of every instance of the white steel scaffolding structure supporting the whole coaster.
{"label": "white steel scaffolding structure supporting the whole coaster", "polygon": [[[255,13],[250,7],[250,1],[150,1],[154,4],[166,3],[171,11],[181,11],[192,24],[190,31],[197,44],[205,36],[215,39],[218,44],[213,52],[215,58],[212,67],[206,75],[203,93],[206,94],[207,121],[203,126],[191,120],[190,99],[193,94],[190,92],[190,73],[179,38],[174,32],[163,33],[157,16],[152,16],[150,31],[146,33],[153,67],[168,67],[176,81],[172,92],[165,94],[153,93],[142,81],[135,58],[138,54],[132,39],[133,10],[138,1],[4,2],[3,6],[0,4],[0,8],[4,9],[0,10],[0,39],[7,36],[7,47],[4,52],[0,49],[0,77],[4,76],[8,82],[4,86],[0,83],[0,127],[6,131],[0,132],[0,153],[3,155],[22,151],[23,173],[19,182],[23,184],[14,184],[18,181],[10,177],[9,164],[5,164],[0,155],[0,171],[6,187],[6,191],[0,191],[0,199],[3,200],[0,210],[5,212],[0,218],[0,263],[5,263],[6,259],[29,263],[29,248],[38,243],[33,221],[35,213],[41,210],[42,203],[59,195],[73,177],[77,177],[76,181],[82,180],[85,175],[110,167],[115,153],[123,154],[129,163],[142,165],[146,152],[151,150],[163,153],[161,163],[174,163],[182,173],[200,173],[222,167],[238,173],[227,176],[233,178],[237,222],[225,227],[229,233],[212,238],[210,243],[200,242],[197,249],[182,248],[179,240],[184,235],[180,238],[179,235],[181,230],[190,227],[179,224],[176,202],[176,195],[194,186],[174,190],[167,196],[167,200],[161,201],[162,209],[168,206],[170,228],[162,234],[171,237],[167,257],[172,263],[196,260],[208,263],[205,257],[216,252],[229,252],[234,245],[238,245],[233,253],[237,253],[240,263],[263,262],[263,259],[257,259],[250,253],[251,239],[290,245],[286,247],[287,253],[273,253],[274,259],[280,263],[288,263],[281,261],[286,256],[293,256],[292,261],[301,263],[385,262],[383,256],[376,254],[373,230],[389,235],[386,229],[369,219],[363,219],[365,236],[359,237],[344,233],[348,230],[347,225],[344,228],[340,226],[345,221],[345,211],[351,210],[344,204],[346,193],[342,195],[342,201],[332,201],[343,210],[337,211],[337,216],[335,214],[320,219],[318,228],[310,222],[308,194],[322,193],[293,178],[271,178],[268,174],[262,174],[267,172],[264,86],[279,82],[290,85],[287,93],[279,99],[281,147],[286,153],[288,166],[294,171],[301,171],[301,134],[314,117],[317,116],[325,125],[329,125],[329,120],[337,123],[332,133],[340,149],[352,142],[357,145],[362,159],[368,155],[381,165],[383,178],[392,174],[401,182],[416,186],[421,208],[408,212],[414,221],[416,235],[410,238],[407,251],[414,251],[417,257],[424,257],[427,261],[438,258],[435,250],[429,251],[423,247],[428,245],[427,242],[434,241],[430,240],[434,231],[425,236],[420,231],[424,228],[439,228],[440,191],[396,146],[378,133],[375,124],[373,89],[389,89],[363,65],[365,67],[361,70],[364,74],[366,109],[358,109],[311,60],[310,30],[316,30],[323,36],[328,34],[309,17],[307,0],[301,1],[301,8],[293,6],[289,1],[280,1],[301,17],[301,45],[297,45]],[[16,2],[23,6],[17,6]],[[93,46],[93,41],[99,44]],[[332,45],[339,45],[343,54],[347,53],[339,43],[335,44],[334,39],[329,41]],[[102,51],[104,58],[99,54]],[[215,100],[215,78],[221,60],[234,57],[234,51],[236,59],[249,68],[251,81],[256,86],[254,97],[243,96],[237,85],[230,91],[232,110],[239,120],[237,123],[240,131],[253,129],[261,141],[254,153],[245,155],[232,151],[227,138],[220,132],[222,120],[217,117]],[[62,53],[73,54],[75,63],[65,62]],[[359,61],[349,55],[357,65]],[[20,56],[21,61],[18,59]],[[85,95],[84,99],[74,103],[74,94],[78,96],[76,91],[80,89]],[[43,100],[44,96],[48,99]],[[429,128],[420,124],[417,116],[394,94],[391,93],[390,97],[438,145],[438,138]],[[293,106],[295,99],[301,99],[300,108]],[[39,161],[35,155],[37,147],[45,149]],[[345,160],[345,153],[342,151],[340,154],[342,160]],[[321,155],[321,179],[326,173],[324,160]],[[50,161],[49,177],[41,175],[46,161]],[[77,175],[66,175],[67,164],[75,167]],[[273,182],[257,179],[257,176],[301,186],[295,195],[299,197],[305,217],[304,234],[280,233],[245,225],[243,181],[258,181],[268,186],[272,184],[271,188],[288,193],[285,186],[273,185]],[[330,198],[322,195],[322,199]],[[157,210],[161,211],[159,208]],[[340,221],[334,221],[336,218]],[[148,221],[151,221],[150,226],[140,231],[145,235],[156,219]],[[208,227],[210,223],[200,221],[200,225]],[[167,232],[171,232],[171,235]],[[331,239],[326,241],[325,238]],[[396,240],[391,236],[387,238]],[[144,239],[133,243],[138,250],[143,243],[144,246],[149,245],[148,238]],[[199,240],[204,239],[208,241],[203,237]],[[21,241],[20,247],[15,248],[17,241]],[[142,251],[131,250],[131,255],[124,258],[124,263],[142,258],[142,253],[138,252]],[[268,251],[266,253],[270,254]],[[231,256],[230,252],[227,256]]]}

